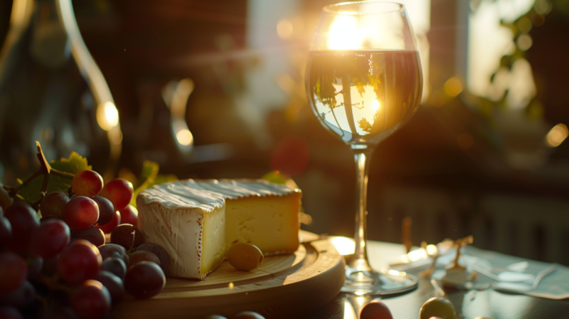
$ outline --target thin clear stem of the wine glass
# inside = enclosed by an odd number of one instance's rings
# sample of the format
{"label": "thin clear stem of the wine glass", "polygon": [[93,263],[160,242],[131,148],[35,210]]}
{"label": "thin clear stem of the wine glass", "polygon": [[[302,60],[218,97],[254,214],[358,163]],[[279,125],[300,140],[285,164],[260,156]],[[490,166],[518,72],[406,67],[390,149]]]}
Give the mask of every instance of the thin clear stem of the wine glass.
{"label": "thin clear stem of the wine glass", "polygon": [[363,150],[354,155],[357,172],[358,206],[356,211],[356,233],[353,236],[356,241],[356,250],[349,266],[358,271],[371,271],[368,263],[368,253],[366,247],[367,224],[366,224],[366,202],[368,195],[368,170],[369,158],[373,149]]}

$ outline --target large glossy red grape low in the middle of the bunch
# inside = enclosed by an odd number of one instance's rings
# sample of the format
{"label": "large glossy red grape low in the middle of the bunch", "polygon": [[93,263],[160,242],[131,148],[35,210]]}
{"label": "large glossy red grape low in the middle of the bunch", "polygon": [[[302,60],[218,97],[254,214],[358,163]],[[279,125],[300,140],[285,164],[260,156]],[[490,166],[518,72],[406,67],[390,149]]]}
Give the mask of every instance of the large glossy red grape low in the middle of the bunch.
{"label": "large glossy red grape low in the middle of the bunch", "polygon": [[99,249],[89,241],[78,239],[60,253],[58,273],[71,285],[78,285],[97,276],[102,258]]}

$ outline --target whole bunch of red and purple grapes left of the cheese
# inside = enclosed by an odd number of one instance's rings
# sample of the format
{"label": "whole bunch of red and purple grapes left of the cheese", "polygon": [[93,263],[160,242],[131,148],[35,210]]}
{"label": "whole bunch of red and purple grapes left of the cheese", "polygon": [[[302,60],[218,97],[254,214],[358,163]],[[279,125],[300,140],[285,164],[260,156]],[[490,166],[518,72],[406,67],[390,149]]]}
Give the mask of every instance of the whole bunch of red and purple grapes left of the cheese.
{"label": "whole bunch of red and purple grapes left of the cheese", "polygon": [[86,170],[68,194],[41,199],[39,219],[0,187],[0,318],[103,318],[125,291],[156,296],[169,256],[144,243],[133,194],[130,182],[103,186],[100,174]]}

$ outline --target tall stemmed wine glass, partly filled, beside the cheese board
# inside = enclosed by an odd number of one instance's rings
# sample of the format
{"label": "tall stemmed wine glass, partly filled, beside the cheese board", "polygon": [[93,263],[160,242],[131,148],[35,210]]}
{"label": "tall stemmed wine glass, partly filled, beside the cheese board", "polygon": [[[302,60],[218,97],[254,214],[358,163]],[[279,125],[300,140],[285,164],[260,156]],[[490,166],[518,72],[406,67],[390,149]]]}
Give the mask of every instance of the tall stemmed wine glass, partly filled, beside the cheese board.
{"label": "tall stemmed wine glass, partly filled, beside the cheese board", "polygon": [[306,85],[314,115],[353,150],[356,162],[356,250],[346,258],[342,291],[386,296],[413,290],[417,278],[375,271],[366,253],[369,158],[379,142],[413,116],[421,100],[417,41],[403,4],[325,6],[310,48]]}

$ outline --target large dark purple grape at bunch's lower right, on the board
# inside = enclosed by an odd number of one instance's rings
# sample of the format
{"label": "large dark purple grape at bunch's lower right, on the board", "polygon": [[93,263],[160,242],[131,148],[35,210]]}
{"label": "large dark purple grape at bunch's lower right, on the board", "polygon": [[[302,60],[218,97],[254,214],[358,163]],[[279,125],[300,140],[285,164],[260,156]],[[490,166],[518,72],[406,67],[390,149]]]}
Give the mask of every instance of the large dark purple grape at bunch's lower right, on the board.
{"label": "large dark purple grape at bunch's lower right, on the board", "polygon": [[156,263],[141,261],[124,276],[124,289],[138,299],[156,296],[166,285],[164,271]]}

